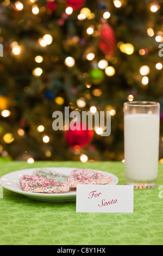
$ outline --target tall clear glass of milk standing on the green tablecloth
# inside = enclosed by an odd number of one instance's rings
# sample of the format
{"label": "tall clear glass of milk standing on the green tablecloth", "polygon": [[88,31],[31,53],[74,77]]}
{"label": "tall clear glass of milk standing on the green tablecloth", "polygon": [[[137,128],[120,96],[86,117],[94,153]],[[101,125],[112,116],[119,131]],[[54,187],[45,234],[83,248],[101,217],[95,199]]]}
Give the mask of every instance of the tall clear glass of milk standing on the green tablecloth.
{"label": "tall clear glass of milk standing on the green tablecloth", "polygon": [[160,103],[125,102],[123,112],[126,184],[134,188],[155,187],[159,162]]}

